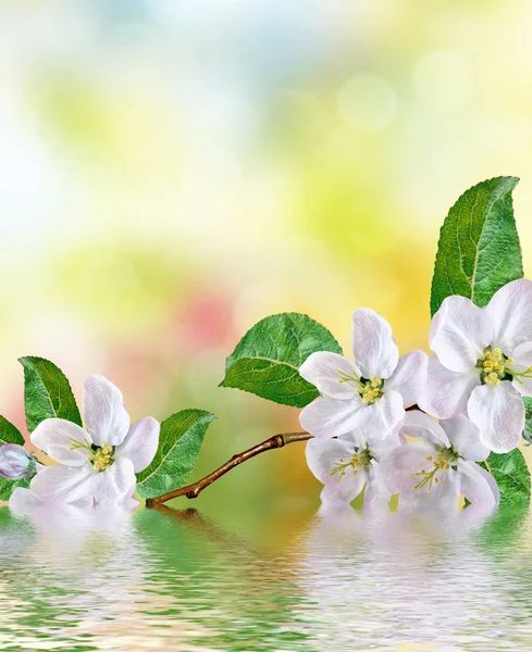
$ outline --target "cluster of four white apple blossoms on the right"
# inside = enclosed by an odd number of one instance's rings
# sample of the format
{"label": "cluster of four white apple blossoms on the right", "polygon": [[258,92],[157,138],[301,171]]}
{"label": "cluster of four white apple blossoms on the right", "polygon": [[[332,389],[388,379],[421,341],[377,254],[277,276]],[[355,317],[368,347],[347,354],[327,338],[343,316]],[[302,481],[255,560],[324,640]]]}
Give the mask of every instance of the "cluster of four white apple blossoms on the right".
{"label": "cluster of four white apple blossoms on the right", "polygon": [[459,496],[494,509],[497,485],[478,462],[521,439],[522,397],[532,396],[532,281],[507,284],[485,309],[446,298],[430,358],[399,359],[388,323],[369,309],[355,311],[351,335],[354,362],[318,352],[300,368],[322,394],[299,417],[316,438],[307,460],[322,500],[350,502],[366,487],[364,505],[399,493],[401,510],[456,511]]}

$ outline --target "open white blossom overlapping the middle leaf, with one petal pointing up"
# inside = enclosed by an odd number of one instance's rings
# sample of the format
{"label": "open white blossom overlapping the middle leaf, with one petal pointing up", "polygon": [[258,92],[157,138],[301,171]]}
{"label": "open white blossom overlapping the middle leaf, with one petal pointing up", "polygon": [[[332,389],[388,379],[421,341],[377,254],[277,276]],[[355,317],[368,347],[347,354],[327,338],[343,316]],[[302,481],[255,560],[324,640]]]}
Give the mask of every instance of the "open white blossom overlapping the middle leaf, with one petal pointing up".
{"label": "open white blossom overlapping the middle leaf, with one petal pointing up", "polygon": [[321,351],[301,365],[300,375],[325,398],[307,405],[301,426],[318,438],[361,428],[386,437],[413,405],[426,381],[428,355],[412,351],[399,360],[389,324],[373,310],[352,314],[355,362]]}

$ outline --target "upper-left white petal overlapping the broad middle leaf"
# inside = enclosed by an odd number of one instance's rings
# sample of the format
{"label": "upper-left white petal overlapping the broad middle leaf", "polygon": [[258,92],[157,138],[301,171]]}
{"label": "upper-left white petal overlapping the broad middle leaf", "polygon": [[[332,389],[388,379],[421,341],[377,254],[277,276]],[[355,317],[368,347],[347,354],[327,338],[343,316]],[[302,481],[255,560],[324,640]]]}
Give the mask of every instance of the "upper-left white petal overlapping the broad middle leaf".
{"label": "upper-left white petal overlapping the broad middle leaf", "polygon": [[360,387],[356,379],[346,380],[360,378],[357,365],[347,358],[329,351],[309,355],[300,366],[299,374],[333,399],[351,399]]}

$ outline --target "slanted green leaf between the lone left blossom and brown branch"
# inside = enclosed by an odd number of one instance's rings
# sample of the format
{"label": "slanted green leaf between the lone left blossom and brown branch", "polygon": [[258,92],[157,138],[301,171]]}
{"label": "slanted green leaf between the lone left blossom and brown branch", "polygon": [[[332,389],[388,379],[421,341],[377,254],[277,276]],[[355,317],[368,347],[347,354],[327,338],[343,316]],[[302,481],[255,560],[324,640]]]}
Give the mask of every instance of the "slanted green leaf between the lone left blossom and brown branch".
{"label": "slanted green leaf between the lone left blossom and brown branch", "polygon": [[156,456],[137,475],[140,498],[156,498],[185,485],[207,428],[215,418],[205,410],[183,410],[162,422]]}

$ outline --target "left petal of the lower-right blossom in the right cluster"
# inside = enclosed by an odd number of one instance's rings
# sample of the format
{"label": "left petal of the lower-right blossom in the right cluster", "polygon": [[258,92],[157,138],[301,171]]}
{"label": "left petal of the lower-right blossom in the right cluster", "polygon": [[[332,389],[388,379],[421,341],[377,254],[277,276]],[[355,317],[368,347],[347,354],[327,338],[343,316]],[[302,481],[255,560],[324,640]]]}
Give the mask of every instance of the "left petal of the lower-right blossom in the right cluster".
{"label": "left petal of the lower-right blossom in the right cluster", "polygon": [[405,443],[384,454],[379,462],[379,478],[393,493],[413,492],[420,473],[426,468],[426,457],[434,455],[434,447],[424,442]]}

